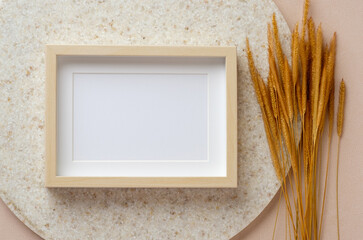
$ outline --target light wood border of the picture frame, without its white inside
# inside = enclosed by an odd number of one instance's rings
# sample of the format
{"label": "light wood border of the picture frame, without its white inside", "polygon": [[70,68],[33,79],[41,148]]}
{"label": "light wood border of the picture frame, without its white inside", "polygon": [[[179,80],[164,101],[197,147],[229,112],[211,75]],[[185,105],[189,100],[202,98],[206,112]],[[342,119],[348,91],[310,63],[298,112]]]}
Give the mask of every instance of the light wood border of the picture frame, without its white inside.
{"label": "light wood border of the picture frame, without its white inside", "polygon": [[[227,91],[226,177],[68,177],[57,176],[57,56],[225,57]],[[46,187],[237,187],[237,59],[236,47],[46,46]]]}

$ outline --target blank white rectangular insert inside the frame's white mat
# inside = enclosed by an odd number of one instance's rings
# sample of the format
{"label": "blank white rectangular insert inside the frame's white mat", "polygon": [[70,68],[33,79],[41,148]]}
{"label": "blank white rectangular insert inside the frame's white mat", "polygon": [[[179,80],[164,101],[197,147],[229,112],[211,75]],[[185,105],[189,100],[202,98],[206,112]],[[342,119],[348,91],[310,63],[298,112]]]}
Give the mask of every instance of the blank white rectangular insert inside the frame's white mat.
{"label": "blank white rectangular insert inside the frame's white mat", "polygon": [[207,74],[73,73],[73,161],[206,162],[208,97]]}

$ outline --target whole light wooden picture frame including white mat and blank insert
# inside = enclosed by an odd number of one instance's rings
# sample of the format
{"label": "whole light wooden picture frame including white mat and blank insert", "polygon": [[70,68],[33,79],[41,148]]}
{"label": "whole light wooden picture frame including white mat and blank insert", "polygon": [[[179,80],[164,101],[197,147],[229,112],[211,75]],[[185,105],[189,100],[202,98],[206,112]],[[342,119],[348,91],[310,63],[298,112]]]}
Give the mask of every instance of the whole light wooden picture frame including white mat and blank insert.
{"label": "whole light wooden picture frame including white mat and blank insert", "polygon": [[235,47],[46,47],[46,187],[237,187]]}

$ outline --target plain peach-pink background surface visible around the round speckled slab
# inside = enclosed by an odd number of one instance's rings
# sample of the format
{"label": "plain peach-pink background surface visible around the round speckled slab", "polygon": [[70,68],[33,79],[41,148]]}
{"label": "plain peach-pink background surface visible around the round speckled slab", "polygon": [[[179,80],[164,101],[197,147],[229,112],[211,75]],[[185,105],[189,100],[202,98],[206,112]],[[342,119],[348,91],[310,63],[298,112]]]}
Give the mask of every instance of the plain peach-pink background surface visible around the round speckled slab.
{"label": "plain peach-pink background surface visible around the round speckled slab", "polygon": [[[303,0],[274,0],[286,18],[290,29],[300,21]],[[339,168],[339,204],[341,238],[362,239],[363,236],[363,1],[361,0],[313,0],[310,15],[323,23],[328,38],[337,32],[336,79],[344,77],[347,87],[345,127],[341,140]],[[336,94],[337,96],[337,94]],[[337,239],[335,210],[336,136],[332,143],[332,155],[324,217],[323,239]],[[324,152],[324,151],[323,151]],[[323,153],[323,159],[326,149]],[[324,169],[323,169],[324,171]],[[278,195],[261,215],[233,240],[270,239],[278,206]],[[282,207],[279,222],[284,223]],[[284,227],[277,227],[276,239],[284,239]],[[0,200],[0,239],[41,239]]]}

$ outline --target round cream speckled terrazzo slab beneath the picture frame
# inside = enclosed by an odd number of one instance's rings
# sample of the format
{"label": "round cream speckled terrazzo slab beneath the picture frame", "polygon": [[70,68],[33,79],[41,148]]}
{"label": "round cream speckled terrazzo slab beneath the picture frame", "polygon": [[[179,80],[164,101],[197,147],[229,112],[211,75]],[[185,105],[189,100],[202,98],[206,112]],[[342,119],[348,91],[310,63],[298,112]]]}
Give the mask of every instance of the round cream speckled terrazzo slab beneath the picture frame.
{"label": "round cream speckled terrazzo slab beneath the picture frame", "polygon": [[[84,1],[85,2],[85,1]],[[244,39],[267,74],[271,0],[0,2],[0,197],[45,239],[229,239],[278,189]],[[46,189],[45,44],[237,46],[237,189]]]}

